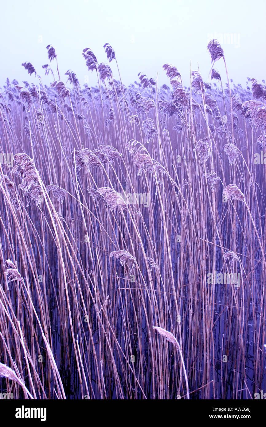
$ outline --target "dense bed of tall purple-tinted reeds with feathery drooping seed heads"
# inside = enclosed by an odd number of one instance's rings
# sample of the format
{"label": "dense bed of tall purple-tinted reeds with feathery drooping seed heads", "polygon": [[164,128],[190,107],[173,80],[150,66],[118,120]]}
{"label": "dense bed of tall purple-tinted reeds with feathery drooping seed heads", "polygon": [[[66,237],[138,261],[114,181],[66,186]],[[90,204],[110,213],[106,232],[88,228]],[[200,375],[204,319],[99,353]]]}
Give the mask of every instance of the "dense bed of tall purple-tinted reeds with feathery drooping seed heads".
{"label": "dense bed of tall purple-tinted reeds with feathery drooping seed heads", "polygon": [[[254,161],[266,88],[223,85],[213,64],[211,85],[192,71],[186,88],[164,64],[169,86],[140,73],[126,87],[83,56],[98,87],[68,70],[71,88],[7,80],[0,94],[0,150],[14,155],[0,164],[0,390],[253,398],[266,389],[266,169]],[[211,283],[215,272],[240,283]]]}

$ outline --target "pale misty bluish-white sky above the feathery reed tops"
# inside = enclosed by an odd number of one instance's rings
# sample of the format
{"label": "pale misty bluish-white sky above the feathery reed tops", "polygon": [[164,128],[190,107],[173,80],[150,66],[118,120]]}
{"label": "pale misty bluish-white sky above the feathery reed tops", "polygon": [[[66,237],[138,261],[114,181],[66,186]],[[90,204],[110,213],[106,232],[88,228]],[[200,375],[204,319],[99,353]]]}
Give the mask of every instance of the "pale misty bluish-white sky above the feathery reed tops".
{"label": "pale misty bluish-white sky above the feathery reed tops", "polygon": [[[45,83],[47,44],[58,55],[61,79],[73,70],[81,83],[96,82],[82,57],[89,47],[98,62],[107,62],[103,44],[113,47],[124,84],[142,71],[159,84],[168,79],[164,63],[174,64],[185,85],[191,69],[199,67],[208,80],[210,38],[221,42],[229,77],[245,85],[246,77],[266,78],[266,1],[223,0],[15,0],[0,6],[0,86],[6,78],[38,82],[21,66],[29,61]],[[227,35],[230,35],[229,37]],[[56,63],[52,62],[56,71]],[[115,78],[116,64],[111,63]],[[215,64],[225,80],[223,61]],[[44,78],[43,78],[44,77]]]}

